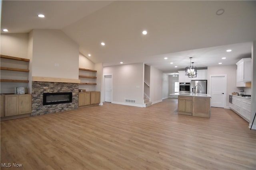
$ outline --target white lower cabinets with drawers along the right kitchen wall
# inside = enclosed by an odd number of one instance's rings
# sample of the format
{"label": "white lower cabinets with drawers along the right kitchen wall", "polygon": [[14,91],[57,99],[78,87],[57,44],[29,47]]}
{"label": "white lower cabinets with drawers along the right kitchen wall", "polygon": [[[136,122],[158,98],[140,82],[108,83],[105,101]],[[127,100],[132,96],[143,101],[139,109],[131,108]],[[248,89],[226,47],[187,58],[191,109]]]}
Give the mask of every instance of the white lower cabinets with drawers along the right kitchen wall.
{"label": "white lower cabinets with drawers along the right kitchen wall", "polygon": [[251,100],[242,98],[239,96],[232,96],[232,104],[230,108],[235,111],[238,115],[250,122],[251,115]]}

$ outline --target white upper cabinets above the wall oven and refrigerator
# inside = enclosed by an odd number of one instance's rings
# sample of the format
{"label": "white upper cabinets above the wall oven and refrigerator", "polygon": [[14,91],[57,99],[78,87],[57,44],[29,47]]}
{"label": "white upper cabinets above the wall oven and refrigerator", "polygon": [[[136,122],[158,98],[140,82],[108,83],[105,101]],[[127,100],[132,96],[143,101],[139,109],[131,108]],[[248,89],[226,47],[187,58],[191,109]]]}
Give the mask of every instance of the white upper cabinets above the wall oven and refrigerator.
{"label": "white upper cabinets above the wall oven and refrigerator", "polygon": [[179,72],[179,82],[190,82],[191,80],[207,80],[207,69],[197,70],[196,77],[188,77],[185,75],[185,71]]}

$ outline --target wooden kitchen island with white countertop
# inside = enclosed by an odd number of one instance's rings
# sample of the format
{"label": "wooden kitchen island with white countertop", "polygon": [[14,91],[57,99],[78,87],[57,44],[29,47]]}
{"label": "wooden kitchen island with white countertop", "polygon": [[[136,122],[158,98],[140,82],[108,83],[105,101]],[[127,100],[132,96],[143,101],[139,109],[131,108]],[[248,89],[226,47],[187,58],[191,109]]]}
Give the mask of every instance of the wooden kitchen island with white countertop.
{"label": "wooden kitchen island with white countertop", "polygon": [[210,118],[210,95],[194,93],[172,95],[178,95],[178,114]]}

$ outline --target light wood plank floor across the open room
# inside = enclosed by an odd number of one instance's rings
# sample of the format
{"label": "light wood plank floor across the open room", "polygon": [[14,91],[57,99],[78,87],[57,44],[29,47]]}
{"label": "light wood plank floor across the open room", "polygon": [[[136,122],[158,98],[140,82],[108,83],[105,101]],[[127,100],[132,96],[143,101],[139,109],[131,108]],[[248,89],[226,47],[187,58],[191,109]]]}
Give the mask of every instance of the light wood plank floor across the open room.
{"label": "light wood plank floor across the open room", "polygon": [[230,109],[177,114],[177,100],[1,121],[1,163],[27,170],[255,170],[256,131]]}

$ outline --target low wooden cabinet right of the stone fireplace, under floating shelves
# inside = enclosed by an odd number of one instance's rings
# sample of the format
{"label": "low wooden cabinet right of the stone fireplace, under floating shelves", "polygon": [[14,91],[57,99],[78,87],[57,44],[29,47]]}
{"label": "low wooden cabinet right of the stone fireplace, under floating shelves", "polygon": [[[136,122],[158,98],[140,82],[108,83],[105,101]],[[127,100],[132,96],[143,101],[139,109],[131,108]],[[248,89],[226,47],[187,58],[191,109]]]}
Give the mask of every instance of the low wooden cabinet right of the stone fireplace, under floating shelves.
{"label": "low wooden cabinet right of the stone fireplace, under floating shelves", "polygon": [[88,106],[100,103],[100,92],[79,92],[78,106]]}

